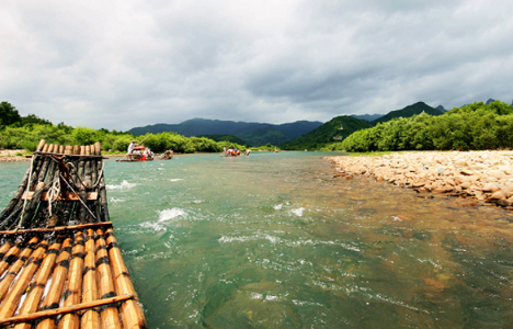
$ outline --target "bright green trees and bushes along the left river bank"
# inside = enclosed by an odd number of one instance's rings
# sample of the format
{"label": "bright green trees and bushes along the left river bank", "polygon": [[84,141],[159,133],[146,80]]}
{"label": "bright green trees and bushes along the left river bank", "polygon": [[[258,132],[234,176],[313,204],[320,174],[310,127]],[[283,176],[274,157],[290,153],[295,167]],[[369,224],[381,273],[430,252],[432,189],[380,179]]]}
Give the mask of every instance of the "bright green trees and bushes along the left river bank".
{"label": "bright green trees and bushes along the left river bank", "polygon": [[[0,103],[0,149],[34,151],[41,139],[58,145],[91,145],[100,141],[104,151],[125,152],[132,140],[139,141],[142,137],[105,128],[72,127],[65,123],[54,125],[34,114],[21,116],[9,102]],[[150,135],[144,145],[155,152],[168,149],[184,154],[220,152],[224,147],[246,150],[244,145],[226,140],[215,141],[206,137],[185,137],[171,132]]]}

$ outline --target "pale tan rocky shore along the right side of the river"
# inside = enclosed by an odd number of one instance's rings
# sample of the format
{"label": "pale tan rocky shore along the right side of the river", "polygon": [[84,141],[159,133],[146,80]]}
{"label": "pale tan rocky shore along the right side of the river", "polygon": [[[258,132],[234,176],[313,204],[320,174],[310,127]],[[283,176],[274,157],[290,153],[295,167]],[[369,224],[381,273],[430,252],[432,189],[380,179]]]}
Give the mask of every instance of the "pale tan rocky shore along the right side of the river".
{"label": "pale tan rocky shore along the right side of the river", "polygon": [[334,177],[363,175],[419,193],[513,208],[513,151],[412,151],[329,159],[335,166]]}

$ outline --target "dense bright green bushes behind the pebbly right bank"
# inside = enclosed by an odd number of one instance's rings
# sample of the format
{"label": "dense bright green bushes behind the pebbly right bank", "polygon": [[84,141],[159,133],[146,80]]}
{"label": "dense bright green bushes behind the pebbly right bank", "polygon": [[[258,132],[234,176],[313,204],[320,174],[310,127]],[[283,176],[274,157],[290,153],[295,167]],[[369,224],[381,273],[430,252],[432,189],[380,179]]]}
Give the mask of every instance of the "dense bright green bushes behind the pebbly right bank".
{"label": "dense bright green bushes behind the pebbly right bank", "polygon": [[353,133],[331,150],[482,150],[513,148],[512,105],[495,101],[455,107],[443,115],[421,113]]}

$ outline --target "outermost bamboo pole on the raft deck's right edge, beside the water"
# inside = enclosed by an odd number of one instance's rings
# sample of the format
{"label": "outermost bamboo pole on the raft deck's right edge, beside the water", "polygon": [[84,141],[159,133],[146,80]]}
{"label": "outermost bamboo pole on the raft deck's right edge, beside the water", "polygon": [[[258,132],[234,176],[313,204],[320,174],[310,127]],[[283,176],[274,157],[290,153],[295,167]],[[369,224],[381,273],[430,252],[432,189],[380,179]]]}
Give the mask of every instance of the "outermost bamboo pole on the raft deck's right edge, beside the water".
{"label": "outermost bamboo pole on the raft deck's right edge, beside the water", "polygon": [[[125,266],[122,253],[117,247],[117,240],[112,228],[106,230],[106,243],[109,249],[109,259],[111,260],[114,283],[117,295],[132,295],[137,299],[137,293],[130,280],[130,274]],[[124,328],[148,328],[145,315],[136,300],[127,300],[121,305],[122,319]]]}

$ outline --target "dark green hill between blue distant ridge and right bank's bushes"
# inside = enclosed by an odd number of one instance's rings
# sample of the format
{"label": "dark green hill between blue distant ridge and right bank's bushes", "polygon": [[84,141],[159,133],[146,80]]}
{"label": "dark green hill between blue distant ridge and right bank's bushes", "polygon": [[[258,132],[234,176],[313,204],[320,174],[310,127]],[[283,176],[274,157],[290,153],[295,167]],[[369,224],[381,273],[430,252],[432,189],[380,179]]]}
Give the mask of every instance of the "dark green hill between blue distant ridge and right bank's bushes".
{"label": "dark green hill between blue distant ridge and right bank's bushes", "polygon": [[327,144],[341,141],[356,131],[369,127],[372,125],[365,120],[347,115],[337,116],[301,137],[281,145],[281,148],[290,150],[319,149]]}

